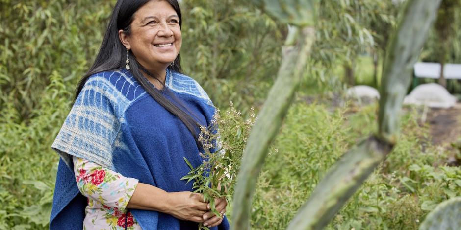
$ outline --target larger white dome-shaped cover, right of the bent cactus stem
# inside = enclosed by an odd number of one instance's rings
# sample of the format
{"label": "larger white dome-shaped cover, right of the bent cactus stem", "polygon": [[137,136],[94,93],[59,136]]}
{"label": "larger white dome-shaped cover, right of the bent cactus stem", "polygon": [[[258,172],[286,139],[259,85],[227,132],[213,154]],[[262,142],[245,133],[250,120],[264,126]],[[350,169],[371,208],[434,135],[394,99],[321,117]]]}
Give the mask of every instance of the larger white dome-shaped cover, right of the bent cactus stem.
{"label": "larger white dome-shaped cover, right of the bent cactus stem", "polygon": [[436,83],[422,84],[414,88],[404,99],[404,104],[425,105],[431,108],[450,108],[455,106],[456,97],[443,86]]}

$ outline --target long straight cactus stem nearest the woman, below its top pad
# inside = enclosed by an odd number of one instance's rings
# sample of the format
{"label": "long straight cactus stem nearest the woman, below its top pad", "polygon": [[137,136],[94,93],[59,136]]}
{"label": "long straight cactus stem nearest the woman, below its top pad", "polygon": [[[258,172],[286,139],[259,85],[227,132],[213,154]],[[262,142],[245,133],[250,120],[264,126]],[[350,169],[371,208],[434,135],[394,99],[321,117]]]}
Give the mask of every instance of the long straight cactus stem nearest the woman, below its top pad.
{"label": "long straight cactus stem nearest the woman, below its top pad", "polygon": [[277,80],[257,116],[244,150],[235,186],[231,230],[249,229],[250,207],[256,190],[257,177],[267,150],[279,131],[302,75],[305,74],[314,40],[313,27],[290,29],[287,42],[282,49],[282,66]]}

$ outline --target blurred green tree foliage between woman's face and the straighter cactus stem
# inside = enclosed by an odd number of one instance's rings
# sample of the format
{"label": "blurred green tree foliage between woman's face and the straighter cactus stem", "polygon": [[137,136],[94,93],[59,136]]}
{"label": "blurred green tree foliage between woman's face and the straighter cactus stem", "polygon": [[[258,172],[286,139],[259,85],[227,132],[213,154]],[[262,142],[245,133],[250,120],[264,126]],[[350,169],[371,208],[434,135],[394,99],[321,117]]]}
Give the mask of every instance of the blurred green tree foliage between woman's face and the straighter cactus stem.
{"label": "blurred green tree foliage between woman's face and the straighter cactus stem", "polygon": [[185,72],[218,107],[255,104],[260,83],[272,81],[280,63],[286,25],[245,0],[187,0],[181,7]]}

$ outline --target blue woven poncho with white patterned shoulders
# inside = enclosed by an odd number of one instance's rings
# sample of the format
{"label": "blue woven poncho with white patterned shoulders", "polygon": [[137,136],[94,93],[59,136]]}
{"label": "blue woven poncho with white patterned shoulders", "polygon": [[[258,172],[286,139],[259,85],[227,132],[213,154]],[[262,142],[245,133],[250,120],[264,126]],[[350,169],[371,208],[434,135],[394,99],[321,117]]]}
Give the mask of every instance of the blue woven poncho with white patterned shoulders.
{"label": "blue woven poncho with white patterned shoulders", "polygon": [[[163,95],[181,101],[201,125],[215,109],[192,78],[167,69]],[[174,102],[174,100],[171,100]],[[72,155],[151,184],[167,192],[193,191],[180,178],[202,163],[195,139],[182,121],[158,104],[125,70],[92,75],[51,146],[61,159],[51,211],[50,229],[82,229],[86,198],[80,194]],[[197,229],[197,223],[168,214],[130,209],[143,230]],[[226,218],[214,230],[229,229]]]}

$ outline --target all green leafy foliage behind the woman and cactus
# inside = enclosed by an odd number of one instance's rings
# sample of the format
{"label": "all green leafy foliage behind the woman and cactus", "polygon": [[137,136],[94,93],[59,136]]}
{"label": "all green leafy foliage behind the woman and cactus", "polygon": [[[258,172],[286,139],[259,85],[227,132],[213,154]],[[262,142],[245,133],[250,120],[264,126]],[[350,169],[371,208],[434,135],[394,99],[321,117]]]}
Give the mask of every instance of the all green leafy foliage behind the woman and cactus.
{"label": "all green leafy foliage behind the woman and cactus", "polygon": [[[285,227],[325,170],[375,128],[376,105],[356,108],[341,95],[351,79],[379,85],[374,69],[380,72],[401,3],[322,2],[310,68],[259,178],[255,229]],[[48,228],[58,161],[50,146],[114,4],[0,0],[0,229]],[[257,111],[279,67],[287,26],[246,0],[182,0],[181,7],[185,73],[223,112],[230,100],[243,116],[251,106]],[[454,31],[447,62],[459,63],[461,33]],[[434,30],[423,60],[436,61],[437,39]],[[447,153],[432,146],[417,115],[409,110],[401,143],[329,228],[416,228],[435,204],[460,195],[460,168],[444,166]]]}

